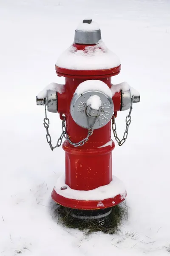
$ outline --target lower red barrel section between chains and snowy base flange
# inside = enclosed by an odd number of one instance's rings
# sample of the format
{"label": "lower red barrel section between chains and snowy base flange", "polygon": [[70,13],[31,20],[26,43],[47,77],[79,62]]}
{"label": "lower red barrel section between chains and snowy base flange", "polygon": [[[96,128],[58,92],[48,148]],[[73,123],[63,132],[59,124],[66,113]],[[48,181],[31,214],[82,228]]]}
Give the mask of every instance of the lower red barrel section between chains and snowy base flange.
{"label": "lower red barrel section between chains and snowy base flange", "polygon": [[64,142],[65,183],[76,190],[92,190],[112,180],[112,150],[115,144],[103,148],[79,149]]}

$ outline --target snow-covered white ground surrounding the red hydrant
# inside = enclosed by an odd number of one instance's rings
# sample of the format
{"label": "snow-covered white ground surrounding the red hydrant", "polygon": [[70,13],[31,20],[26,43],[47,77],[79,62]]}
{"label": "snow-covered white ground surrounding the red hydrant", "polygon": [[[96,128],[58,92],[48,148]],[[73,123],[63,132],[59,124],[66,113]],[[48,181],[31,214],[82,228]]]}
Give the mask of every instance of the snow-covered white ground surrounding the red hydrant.
{"label": "snow-covered white ground surrounding the red hydrant", "polygon": [[[121,59],[113,83],[127,81],[141,102],[127,142],[113,151],[113,174],[127,188],[128,220],[116,235],[85,237],[51,218],[51,191],[65,157],[46,143],[35,96],[50,82],[64,83],[54,64],[89,16]],[[1,255],[170,255],[170,0],[0,0],[0,24]],[[116,119],[120,134],[126,114]],[[56,141],[61,121],[48,116]]]}

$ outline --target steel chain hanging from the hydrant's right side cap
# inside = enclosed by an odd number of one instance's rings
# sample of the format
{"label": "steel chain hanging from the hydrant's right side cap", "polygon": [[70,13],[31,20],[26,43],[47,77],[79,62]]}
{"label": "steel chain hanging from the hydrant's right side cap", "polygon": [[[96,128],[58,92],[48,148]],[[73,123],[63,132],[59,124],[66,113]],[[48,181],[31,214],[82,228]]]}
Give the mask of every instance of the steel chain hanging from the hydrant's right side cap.
{"label": "steel chain hanging from the hydrant's right side cap", "polygon": [[114,116],[114,114],[113,114],[113,117],[112,117],[112,130],[113,130],[113,134],[114,134],[115,140],[117,141],[117,143],[118,143],[119,146],[122,146],[123,143],[125,143],[125,141],[127,140],[129,125],[130,125],[130,123],[131,123],[131,113],[132,113],[132,109],[133,109],[133,96],[132,96],[132,98],[131,98],[131,104],[130,104],[129,114],[128,114],[128,116],[126,116],[126,129],[125,129],[125,132],[124,132],[124,134],[123,134],[122,140],[120,140],[119,137],[117,136],[115,116]]}

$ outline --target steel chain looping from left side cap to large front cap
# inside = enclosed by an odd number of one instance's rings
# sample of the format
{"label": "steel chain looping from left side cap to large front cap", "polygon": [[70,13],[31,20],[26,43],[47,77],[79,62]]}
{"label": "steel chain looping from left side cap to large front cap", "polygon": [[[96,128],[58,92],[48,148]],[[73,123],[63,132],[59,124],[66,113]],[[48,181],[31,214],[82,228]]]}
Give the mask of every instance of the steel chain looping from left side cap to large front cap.
{"label": "steel chain looping from left side cap to large front cap", "polygon": [[51,135],[49,134],[49,130],[48,130],[49,124],[50,124],[50,120],[47,117],[47,103],[46,103],[46,99],[44,100],[44,106],[45,106],[45,118],[44,118],[44,124],[43,125],[44,125],[44,127],[46,129],[46,133],[47,133],[46,134],[46,140],[47,140],[47,142],[48,142],[48,144],[49,144],[49,146],[50,146],[52,151],[54,150],[54,148],[57,148],[57,147],[61,146],[63,137],[65,138],[65,140],[68,140],[68,142],[71,145],[73,145],[74,147],[80,147],[80,146],[84,145],[88,141],[89,137],[93,134],[93,131],[94,131],[93,127],[94,127],[94,123],[95,123],[96,119],[95,119],[92,127],[90,127],[88,129],[88,135],[87,135],[87,137],[85,139],[79,141],[78,143],[71,142],[71,140],[69,139],[69,136],[68,136],[68,134],[66,132],[65,116],[62,115],[62,117],[63,117],[63,119],[62,119],[62,134],[60,135],[59,139],[57,140],[57,145],[53,147],[53,145],[51,143]]}

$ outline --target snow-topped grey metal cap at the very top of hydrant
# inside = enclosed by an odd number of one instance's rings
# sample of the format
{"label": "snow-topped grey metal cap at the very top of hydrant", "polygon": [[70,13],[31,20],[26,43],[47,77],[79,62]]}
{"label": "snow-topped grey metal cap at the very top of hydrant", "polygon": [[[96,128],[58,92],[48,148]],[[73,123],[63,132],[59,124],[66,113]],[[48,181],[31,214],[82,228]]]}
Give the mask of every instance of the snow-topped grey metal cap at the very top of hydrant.
{"label": "snow-topped grey metal cap at the very top of hydrant", "polygon": [[75,30],[74,43],[76,44],[97,44],[101,40],[99,25],[91,19],[85,19]]}

